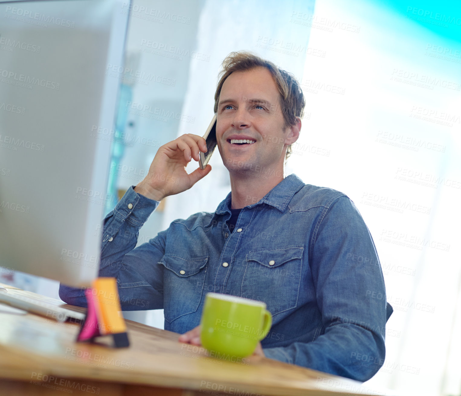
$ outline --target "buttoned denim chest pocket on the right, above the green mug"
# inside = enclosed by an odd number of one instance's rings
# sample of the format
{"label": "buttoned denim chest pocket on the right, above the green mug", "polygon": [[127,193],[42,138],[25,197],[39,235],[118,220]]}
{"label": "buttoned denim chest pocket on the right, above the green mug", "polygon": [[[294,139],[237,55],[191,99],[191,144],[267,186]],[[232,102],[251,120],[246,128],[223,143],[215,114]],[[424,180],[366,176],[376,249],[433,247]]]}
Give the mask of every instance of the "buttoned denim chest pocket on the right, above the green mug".
{"label": "buttoned denim chest pocket on the right, above the green mug", "polygon": [[248,252],[241,297],[264,301],[272,316],[296,308],[303,250],[285,246]]}

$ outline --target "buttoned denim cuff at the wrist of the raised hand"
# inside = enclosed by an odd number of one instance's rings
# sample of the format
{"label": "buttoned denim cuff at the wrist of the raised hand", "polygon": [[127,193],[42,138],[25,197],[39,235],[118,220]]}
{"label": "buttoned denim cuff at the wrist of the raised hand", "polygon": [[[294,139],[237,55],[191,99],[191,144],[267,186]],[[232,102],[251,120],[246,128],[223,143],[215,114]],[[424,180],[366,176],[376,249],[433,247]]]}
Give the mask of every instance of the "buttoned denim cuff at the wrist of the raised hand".
{"label": "buttoned denim cuff at the wrist of the raised hand", "polygon": [[121,220],[141,227],[159,205],[160,201],[144,197],[134,190],[134,186],[130,186],[115,206],[114,214]]}

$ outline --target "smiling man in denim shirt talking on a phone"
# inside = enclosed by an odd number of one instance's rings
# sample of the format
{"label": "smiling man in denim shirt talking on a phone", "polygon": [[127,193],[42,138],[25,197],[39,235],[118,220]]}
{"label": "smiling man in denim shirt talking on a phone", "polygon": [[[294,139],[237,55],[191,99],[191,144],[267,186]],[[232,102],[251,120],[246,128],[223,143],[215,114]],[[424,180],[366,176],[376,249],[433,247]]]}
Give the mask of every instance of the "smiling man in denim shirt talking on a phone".
{"label": "smiling man in denim shirt talking on a phone", "polygon": [[[343,193],[284,177],[305,105],[296,79],[246,52],[231,53],[223,69],[214,110],[231,192],[214,213],[177,219],[135,248],[160,201],[211,171],[185,170],[206,151],[200,136],[164,144],[146,178],[106,216],[100,276],[117,278],[122,309],[163,308],[165,330],[196,345],[206,292],[264,301],[273,324],[255,354],[365,381],[384,362],[387,320],[368,228]],[[370,298],[378,293],[382,300]],[[61,285],[59,295],[86,304],[81,289]]]}

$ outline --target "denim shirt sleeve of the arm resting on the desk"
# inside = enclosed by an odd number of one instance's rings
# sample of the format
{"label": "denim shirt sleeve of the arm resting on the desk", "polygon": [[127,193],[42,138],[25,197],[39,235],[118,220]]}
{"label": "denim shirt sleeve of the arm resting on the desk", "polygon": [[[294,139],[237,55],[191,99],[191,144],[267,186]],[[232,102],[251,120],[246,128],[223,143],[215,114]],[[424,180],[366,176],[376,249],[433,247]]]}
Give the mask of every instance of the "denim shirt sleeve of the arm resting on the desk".
{"label": "denim shirt sleeve of the arm resting on the desk", "polygon": [[336,198],[321,213],[310,235],[309,264],[322,313],[320,336],[264,354],[366,381],[384,363],[386,292],[372,236],[348,197]]}

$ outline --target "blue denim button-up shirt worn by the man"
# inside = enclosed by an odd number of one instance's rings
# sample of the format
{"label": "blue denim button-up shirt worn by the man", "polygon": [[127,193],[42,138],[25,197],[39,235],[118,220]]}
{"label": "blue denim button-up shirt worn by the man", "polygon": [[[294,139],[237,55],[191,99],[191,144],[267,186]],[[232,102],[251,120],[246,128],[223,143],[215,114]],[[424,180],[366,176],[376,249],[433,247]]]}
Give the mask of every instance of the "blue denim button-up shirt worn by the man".
{"label": "blue denim button-up shirt worn by the man", "polygon": [[[163,308],[165,330],[182,334],[200,324],[207,292],[260,300],[273,318],[266,357],[359,381],[383,365],[383,273],[342,192],[290,174],[242,209],[232,233],[229,193],[214,213],[177,219],[135,248],[159,204],[130,187],[104,220],[99,274],[117,278],[123,310]],[[83,289],[60,285],[59,296],[86,306]]]}

